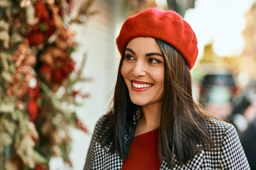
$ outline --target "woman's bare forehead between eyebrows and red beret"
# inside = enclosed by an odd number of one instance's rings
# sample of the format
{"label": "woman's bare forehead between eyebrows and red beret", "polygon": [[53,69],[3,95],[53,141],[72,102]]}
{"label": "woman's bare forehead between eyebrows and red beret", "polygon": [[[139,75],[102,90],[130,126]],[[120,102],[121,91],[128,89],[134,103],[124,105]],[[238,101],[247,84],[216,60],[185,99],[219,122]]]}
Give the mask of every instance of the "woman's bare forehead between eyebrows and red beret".
{"label": "woman's bare forehead between eyebrows and red beret", "polygon": [[131,48],[136,54],[146,54],[150,52],[162,53],[154,38],[137,37],[132,39],[126,48]]}

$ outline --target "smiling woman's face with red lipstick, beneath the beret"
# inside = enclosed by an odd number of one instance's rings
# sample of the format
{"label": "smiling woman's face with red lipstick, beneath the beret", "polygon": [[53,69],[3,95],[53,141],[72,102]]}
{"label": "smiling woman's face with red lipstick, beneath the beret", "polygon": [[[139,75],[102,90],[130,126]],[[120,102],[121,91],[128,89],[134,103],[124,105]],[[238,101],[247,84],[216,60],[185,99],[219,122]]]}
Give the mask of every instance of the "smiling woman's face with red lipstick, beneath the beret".
{"label": "smiling woman's face with red lipstick, beneath the beret", "polygon": [[137,37],[128,43],[121,74],[134,104],[143,106],[161,101],[164,57],[153,38]]}

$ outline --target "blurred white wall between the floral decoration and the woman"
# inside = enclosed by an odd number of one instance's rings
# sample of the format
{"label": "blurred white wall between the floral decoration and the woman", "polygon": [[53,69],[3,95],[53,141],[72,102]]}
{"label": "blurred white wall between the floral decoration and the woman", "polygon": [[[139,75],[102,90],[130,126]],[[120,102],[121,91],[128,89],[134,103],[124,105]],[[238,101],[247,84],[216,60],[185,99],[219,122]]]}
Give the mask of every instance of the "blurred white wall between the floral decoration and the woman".
{"label": "blurred white wall between the floral decoration and the woman", "polygon": [[[106,0],[97,0],[94,6],[101,13],[90,18],[86,26],[74,27],[77,32],[76,40],[81,43],[74,58],[79,65],[83,53],[87,53],[83,75],[93,78],[92,82],[79,85],[83,91],[90,93],[90,98],[76,111],[91,133],[99,117],[108,111],[116,81],[116,55],[119,56],[115,44],[116,7]],[[73,145],[70,159],[74,170],[82,170],[92,134],[84,134],[75,129],[71,133]]]}

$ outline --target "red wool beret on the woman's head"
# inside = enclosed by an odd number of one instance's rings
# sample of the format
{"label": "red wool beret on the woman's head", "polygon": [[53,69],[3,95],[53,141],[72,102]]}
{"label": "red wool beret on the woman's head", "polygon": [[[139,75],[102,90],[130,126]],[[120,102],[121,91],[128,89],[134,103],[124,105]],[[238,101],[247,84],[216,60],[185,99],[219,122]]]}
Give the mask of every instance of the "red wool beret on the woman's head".
{"label": "red wool beret on the woman's head", "polygon": [[148,8],[128,17],[116,38],[120,54],[125,50],[125,45],[136,37],[152,37],[163,40],[182,54],[190,70],[195,65],[198,56],[195,33],[189,23],[175,11]]}

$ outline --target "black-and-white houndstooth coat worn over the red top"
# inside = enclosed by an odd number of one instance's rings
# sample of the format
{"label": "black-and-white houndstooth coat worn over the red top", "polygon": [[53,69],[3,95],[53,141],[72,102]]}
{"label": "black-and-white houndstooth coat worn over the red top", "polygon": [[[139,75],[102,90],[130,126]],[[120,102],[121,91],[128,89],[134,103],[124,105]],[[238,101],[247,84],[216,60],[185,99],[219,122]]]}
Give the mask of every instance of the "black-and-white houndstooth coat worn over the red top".
{"label": "black-and-white houndstooth coat worn over the red top", "polygon": [[[136,125],[140,114],[140,109],[134,112],[134,125]],[[215,123],[215,126],[209,121]],[[184,165],[180,165],[174,158],[173,170],[250,170],[235,127],[213,118],[210,118],[209,121],[206,122],[206,125],[216,147],[210,151],[200,150]],[[122,159],[119,154],[108,153],[109,147],[99,143],[99,138],[108,127],[109,123],[104,115],[96,123],[84,170],[122,170]],[[165,158],[163,158],[160,170],[170,170]]]}

